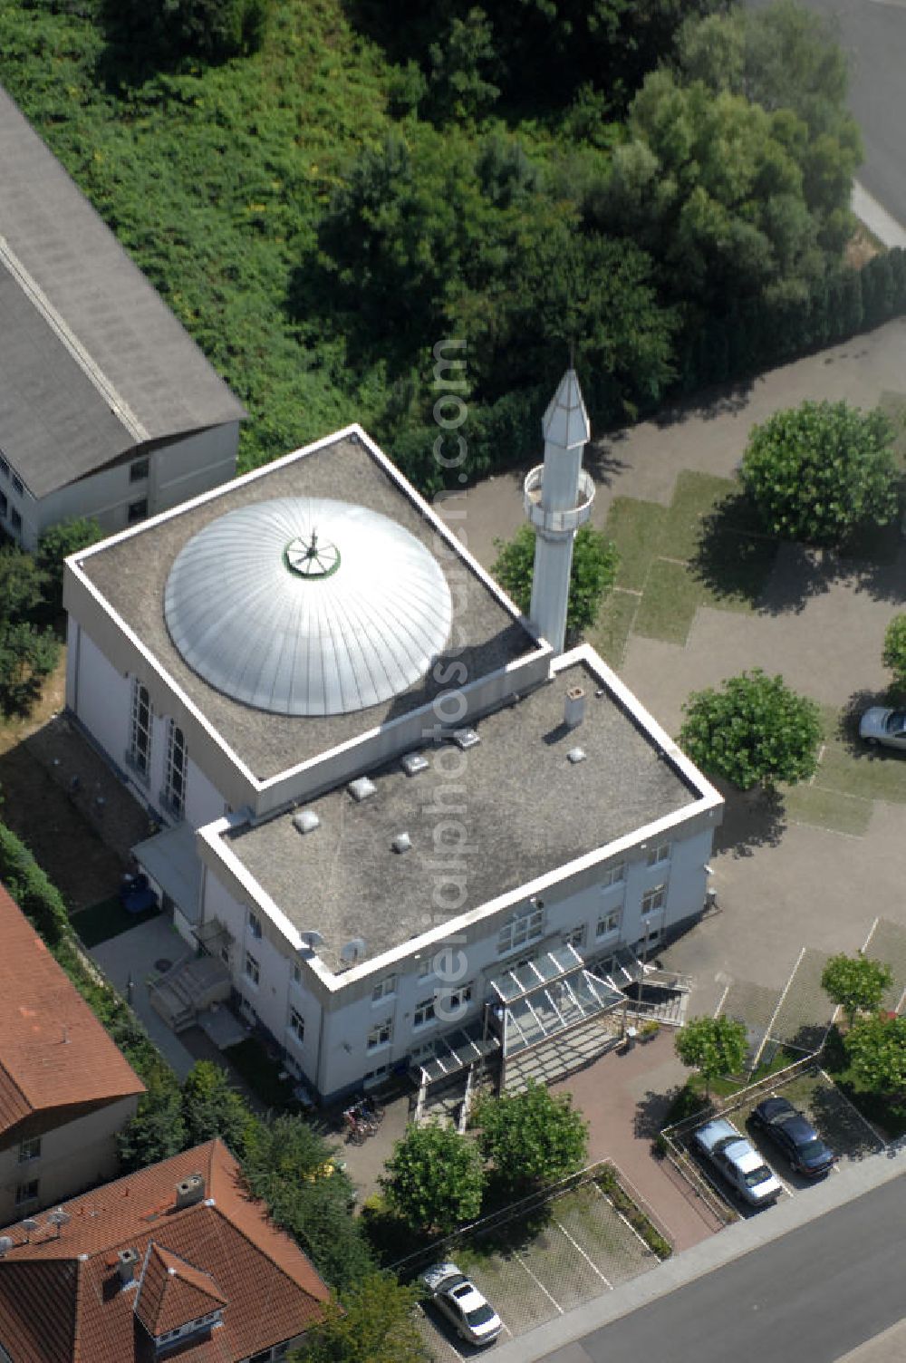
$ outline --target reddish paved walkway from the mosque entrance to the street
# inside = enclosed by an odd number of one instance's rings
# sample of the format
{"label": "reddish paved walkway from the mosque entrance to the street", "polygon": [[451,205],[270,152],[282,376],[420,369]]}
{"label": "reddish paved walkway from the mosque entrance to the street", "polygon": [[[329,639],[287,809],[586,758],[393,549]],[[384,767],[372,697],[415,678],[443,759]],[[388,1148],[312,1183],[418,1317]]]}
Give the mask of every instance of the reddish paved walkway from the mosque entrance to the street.
{"label": "reddish paved walkway from the mosque entrance to the street", "polygon": [[649,1204],[677,1250],[708,1239],[719,1225],[693,1190],[670,1176],[670,1165],[653,1154],[653,1141],[688,1070],[673,1051],[673,1033],[629,1051],[609,1051],[587,1069],[552,1085],[571,1093],[590,1122],[589,1160],[612,1160]]}

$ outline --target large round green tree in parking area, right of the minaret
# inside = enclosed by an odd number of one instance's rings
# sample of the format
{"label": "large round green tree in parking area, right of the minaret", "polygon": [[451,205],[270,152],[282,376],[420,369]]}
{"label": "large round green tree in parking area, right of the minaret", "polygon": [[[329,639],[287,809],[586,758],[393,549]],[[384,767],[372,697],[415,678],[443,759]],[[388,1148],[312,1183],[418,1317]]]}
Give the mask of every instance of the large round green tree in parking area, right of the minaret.
{"label": "large round green tree in parking area, right of the minaret", "polygon": [[752,428],[743,485],[771,534],[841,545],[896,515],[892,440],[880,410],[802,402]]}

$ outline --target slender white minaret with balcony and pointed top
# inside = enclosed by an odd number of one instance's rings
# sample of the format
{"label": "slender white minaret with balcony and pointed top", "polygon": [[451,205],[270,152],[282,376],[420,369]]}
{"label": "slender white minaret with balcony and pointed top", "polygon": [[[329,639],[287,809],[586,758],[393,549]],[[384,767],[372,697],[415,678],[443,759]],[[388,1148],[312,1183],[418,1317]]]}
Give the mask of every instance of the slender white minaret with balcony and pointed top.
{"label": "slender white minaret with balcony and pointed top", "polygon": [[531,623],[557,654],[567,632],[572,541],[594,500],[594,483],[582,468],[591,427],[574,368],[560,380],[541,429],[544,463],[525,483],[526,515],[535,532]]}

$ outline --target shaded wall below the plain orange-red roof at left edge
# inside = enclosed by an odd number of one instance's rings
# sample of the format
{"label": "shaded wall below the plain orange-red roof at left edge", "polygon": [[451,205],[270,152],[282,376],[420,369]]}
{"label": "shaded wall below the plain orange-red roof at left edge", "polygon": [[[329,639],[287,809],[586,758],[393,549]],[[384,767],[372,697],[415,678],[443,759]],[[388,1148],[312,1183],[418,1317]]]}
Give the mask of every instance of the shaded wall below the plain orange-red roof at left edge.
{"label": "shaded wall below the plain orange-red roof at left edge", "polygon": [[[138,1096],[119,1099],[63,1126],[45,1131],[41,1154],[19,1161],[19,1142],[0,1150],[0,1225],[19,1221],[41,1208],[54,1206],[95,1182],[119,1174],[116,1133],[138,1107]],[[16,1204],[16,1187],[38,1180],[38,1197]]]}

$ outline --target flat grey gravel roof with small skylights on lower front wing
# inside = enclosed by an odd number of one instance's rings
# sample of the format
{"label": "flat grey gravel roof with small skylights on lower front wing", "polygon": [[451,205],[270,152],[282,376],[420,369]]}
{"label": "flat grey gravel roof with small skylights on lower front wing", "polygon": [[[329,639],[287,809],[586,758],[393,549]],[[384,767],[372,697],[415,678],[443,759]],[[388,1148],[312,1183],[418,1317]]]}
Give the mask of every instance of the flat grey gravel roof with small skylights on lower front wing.
{"label": "flat grey gravel roof with small skylights on lower front wing", "polygon": [[[567,688],[582,687],[584,720],[564,722]],[[300,833],[297,811],[223,834],[264,893],[331,969],[361,939],[360,960],[480,908],[649,823],[693,804],[699,791],[586,661],[474,725],[462,752],[426,746],[426,766],[399,761],[369,773],[358,803],[341,786],[304,806],[319,826]],[[571,761],[580,750],[584,756]],[[451,774],[455,773],[455,774]],[[394,851],[407,834],[410,848]],[[444,868],[465,898],[432,913]],[[447,901],[450,902],[450,900]]]}

